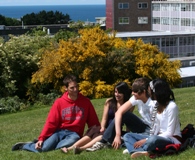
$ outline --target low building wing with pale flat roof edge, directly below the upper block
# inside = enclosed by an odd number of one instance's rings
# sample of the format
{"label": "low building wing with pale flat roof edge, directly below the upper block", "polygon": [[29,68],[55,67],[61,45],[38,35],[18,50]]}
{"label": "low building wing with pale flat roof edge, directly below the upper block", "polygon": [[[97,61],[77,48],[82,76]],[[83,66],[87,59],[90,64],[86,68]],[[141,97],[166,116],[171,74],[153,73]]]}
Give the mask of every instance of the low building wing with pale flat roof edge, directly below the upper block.
{"label": "low building wing with pale flat roof edge, directly below the upper block", "polygon": [[123,39],[141,38],[145,43],[157,45],[159,50],[169,54],[170,58],[184,58],[195,56],[195,30],[190,32],[118,32],[116,36]]}

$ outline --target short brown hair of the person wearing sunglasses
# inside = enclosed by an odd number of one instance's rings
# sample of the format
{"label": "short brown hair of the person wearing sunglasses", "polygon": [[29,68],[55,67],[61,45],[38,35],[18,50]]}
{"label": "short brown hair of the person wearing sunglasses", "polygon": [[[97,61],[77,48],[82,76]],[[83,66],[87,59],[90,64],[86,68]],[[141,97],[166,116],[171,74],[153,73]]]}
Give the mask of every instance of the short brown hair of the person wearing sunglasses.
{"label": "short brown hair of the person wearing sunglasses", "polygon": [[148,86],[150,80],[146,77],[137,78],[132,84],[132,91],[138,94],[141,94],[146,91],[146,96],[149,97],[148,94]]}

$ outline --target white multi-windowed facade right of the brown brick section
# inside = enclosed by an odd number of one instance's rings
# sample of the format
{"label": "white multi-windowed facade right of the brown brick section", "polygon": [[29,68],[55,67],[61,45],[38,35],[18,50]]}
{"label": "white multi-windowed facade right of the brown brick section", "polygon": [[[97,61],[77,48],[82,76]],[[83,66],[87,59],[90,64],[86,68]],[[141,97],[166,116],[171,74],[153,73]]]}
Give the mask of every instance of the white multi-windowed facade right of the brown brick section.
{"label": "white multi-windowed facade right of the brown brick section", "polygon": [[153,0],[152,30],[195,30],[195,0]]}

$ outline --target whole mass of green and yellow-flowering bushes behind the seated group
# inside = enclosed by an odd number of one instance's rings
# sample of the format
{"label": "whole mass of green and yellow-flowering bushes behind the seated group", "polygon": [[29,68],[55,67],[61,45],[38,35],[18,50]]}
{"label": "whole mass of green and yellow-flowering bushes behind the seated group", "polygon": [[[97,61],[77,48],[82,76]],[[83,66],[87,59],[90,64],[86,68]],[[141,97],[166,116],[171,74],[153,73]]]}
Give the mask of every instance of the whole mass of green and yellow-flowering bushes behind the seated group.
{"label": "whole mass of green and yellow-flowering bushes behind the seated group", "polygon": [[181,82],[180,61],[169,61],[167,54],[141,39],[122,40],[98,26],[78,33],[60,30],[54,37],[40,30],[32,33],[1,43],[0,97],[36,101],[39,93],[64,92],[62,80],[70,73],[90,98],[109,97],[117,82],[131,85],[141,76],[164,78],[172,86]]}

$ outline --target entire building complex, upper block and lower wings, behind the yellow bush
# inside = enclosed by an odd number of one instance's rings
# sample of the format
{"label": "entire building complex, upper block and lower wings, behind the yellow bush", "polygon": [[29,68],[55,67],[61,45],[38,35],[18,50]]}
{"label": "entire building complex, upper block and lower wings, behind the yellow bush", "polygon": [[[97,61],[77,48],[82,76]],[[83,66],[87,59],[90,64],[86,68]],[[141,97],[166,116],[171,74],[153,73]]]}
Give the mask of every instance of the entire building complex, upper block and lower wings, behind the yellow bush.
{"label": "entire building complex, upper block and lower wings, behind the yellow bush", "polygon": [[195,0],[106,0],[106,28],[181,60],[180,87],[195,86]]}

